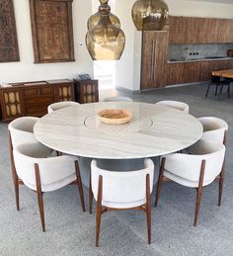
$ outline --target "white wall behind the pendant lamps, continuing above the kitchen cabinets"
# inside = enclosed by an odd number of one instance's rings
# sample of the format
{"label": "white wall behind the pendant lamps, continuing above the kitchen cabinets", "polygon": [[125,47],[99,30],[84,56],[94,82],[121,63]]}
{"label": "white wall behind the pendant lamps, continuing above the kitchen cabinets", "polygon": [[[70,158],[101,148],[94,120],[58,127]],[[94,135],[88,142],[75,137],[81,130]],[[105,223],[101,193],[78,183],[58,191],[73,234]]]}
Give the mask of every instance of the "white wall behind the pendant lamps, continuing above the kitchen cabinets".
{"label": "white wall behind the pendant lamps, continuing above the kitchen cabinets", "polygon": [[[165,0],[170,15],[233,19],[232,4],[192,0]],[[219,0],[220,1],[220,0]],[[116,64],[116,86],[136,91],[140,89],[141,32],[136,32],[131,20],[131,7],[135,0],[116,0],[116,15],[126,37],[126,46]]]}

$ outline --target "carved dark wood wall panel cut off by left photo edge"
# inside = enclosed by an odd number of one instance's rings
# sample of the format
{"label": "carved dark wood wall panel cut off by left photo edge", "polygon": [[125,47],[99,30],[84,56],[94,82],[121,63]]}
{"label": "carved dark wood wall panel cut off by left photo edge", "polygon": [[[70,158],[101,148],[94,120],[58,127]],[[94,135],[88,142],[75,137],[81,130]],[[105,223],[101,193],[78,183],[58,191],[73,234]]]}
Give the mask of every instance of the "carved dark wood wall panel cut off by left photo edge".
{"label": "carved dark wood wall panel cut off by left photo edge", "polygon": [[0,0],[0,62],[19,60],[13,0]]}

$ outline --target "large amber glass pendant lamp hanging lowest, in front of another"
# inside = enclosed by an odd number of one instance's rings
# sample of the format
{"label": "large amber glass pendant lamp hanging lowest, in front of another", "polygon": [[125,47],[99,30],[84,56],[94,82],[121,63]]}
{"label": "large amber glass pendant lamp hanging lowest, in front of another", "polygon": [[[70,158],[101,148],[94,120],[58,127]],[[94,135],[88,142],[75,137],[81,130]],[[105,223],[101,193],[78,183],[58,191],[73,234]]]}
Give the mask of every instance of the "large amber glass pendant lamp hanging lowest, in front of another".
{"label": "large amber glass pendant lamp hanging lowest, in front of another", "polygon": [[[93,60],[119,59],[125,44],[123,32],[111,22],[109,0],[100,0],[100,20],[86,35],[86,45]],[[118,23],[119,24],[119,23]]]}

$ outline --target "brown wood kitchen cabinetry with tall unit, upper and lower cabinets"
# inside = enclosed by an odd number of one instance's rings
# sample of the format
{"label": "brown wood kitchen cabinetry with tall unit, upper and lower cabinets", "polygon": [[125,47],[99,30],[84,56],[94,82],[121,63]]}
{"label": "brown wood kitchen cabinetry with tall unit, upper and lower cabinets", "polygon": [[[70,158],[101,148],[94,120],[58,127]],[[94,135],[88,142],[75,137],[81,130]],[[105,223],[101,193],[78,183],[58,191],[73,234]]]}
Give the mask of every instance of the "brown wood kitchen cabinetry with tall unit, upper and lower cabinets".
{"label": "brown wood kitchen cabinetry with tall unit, upper and lower cabinets", "polygon": [[207,81],[212,70],[233,68],[233,59],[168,62],[169,43],[233,43],[233,19],[169,17],[168,29],[143,32],[141,90]]}

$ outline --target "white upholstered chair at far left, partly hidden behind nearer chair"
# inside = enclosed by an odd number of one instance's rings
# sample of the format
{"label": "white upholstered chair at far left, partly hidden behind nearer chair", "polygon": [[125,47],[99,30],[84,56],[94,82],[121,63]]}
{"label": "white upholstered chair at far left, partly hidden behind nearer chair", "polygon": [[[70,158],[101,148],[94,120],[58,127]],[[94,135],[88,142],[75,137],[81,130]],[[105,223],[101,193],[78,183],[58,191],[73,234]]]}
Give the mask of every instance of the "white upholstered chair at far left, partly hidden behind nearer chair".
{"label": "white upholstered chair at far left, partly hidden behind nearer chair", "polygon": [[[24,143],[29,142],[39,142],[34,135],[34,126],[39,121],[39,118],[34,117],[22,117],[12,121],[9,126],[9,143],[10,143],[10,157],[11,157],[11,166],[12,166],[12,177],[15,187],[15,196],[16,196],[16,208],[17,211],[19,208],[19,185],[23,185],[22,180],[19,179],[15,170],[13,148]],[[39,144],[39,150],[41,155],[44,156],[51,153],[51,149]]]}

